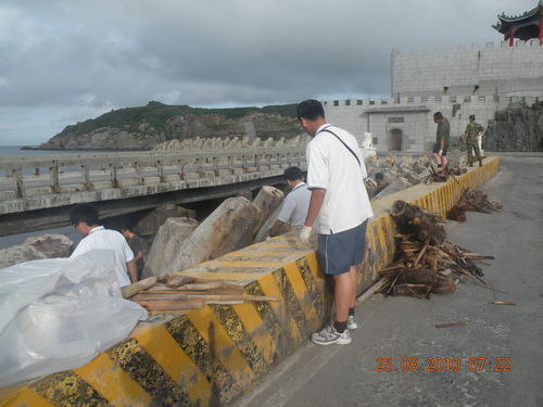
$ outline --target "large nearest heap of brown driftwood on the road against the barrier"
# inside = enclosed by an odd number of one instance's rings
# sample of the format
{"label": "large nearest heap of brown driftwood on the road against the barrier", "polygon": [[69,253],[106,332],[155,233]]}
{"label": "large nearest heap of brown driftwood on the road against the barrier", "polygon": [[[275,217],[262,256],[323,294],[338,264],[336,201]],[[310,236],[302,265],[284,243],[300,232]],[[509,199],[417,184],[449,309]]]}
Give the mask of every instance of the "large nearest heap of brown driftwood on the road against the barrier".
{"label": "large nearest heap of brown driftwood on the road against the barrier", "polygon": [[395,201],[391,215],[400,231],[395,237],[397,254],[392,266],[379,271],[381,277],[388,278],[381,293],[429,298],[432,293],[453,293],[460,280],[492,289],[482,279],[483,272],[475,262],[484,263],[494,257],[447,242],[441,217],[405,201]]}

